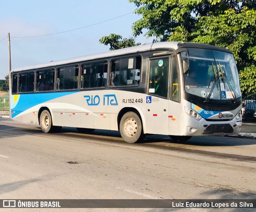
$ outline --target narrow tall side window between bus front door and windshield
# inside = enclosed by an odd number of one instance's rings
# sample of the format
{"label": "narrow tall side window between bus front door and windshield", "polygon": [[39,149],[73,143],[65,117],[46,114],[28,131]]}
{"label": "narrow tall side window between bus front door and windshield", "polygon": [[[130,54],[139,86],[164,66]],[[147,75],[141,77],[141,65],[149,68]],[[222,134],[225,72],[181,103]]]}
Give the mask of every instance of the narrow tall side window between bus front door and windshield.
{"label": "narrow tall side window between bus front door and windshield", "polygon": [[180,94],[179,94],[179,69],[178,69],[178,63],[177,63],[177,57],[172,57],[172,96],[171,100],[174,100],[176,102],[180,101]]}

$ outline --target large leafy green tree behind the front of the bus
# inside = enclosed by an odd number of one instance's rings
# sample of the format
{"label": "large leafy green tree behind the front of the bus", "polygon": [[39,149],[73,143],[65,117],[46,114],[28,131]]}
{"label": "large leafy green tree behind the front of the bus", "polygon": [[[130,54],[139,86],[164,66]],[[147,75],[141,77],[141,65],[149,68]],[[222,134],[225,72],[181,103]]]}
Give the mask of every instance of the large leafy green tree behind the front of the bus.
{"label": "large leafy green tree behind the front of the bus", "polygon": [[243,95],[255,91],[255,0],[129,0],[142,18],[133,26],[139,36],[156,41],[199,42],[229,48],[240,71]]}

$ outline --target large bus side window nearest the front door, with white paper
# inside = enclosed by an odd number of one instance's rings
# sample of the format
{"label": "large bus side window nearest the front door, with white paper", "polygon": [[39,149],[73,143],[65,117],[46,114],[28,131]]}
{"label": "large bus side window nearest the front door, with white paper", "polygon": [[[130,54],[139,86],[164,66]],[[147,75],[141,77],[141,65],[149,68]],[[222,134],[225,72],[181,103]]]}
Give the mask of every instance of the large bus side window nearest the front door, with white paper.
{"label": "large bus side window nearest the front door, with white paper", "polygon": [[141,57],[129,57],[111,61],[111,86],[140,84]]}

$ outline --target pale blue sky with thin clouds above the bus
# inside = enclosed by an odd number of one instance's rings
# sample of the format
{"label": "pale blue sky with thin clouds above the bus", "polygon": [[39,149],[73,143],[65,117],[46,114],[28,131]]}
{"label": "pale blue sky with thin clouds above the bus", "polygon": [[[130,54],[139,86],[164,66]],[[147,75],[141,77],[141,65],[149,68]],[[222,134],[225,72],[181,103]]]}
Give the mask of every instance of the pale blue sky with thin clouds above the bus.
{"label": "pale blue sky with thin clouds above the bus", "polygon": [[[8,33],[12,69],[85,56],[109,51],[110,46],[99,42],[103,36],[111,33],[123,38],[132,36],[132,24],[141,18],[133,13],[135,9],[135,4],[128,0],[1,1],[0,79],[4,79],[9,70],[5,38]],[[110,20],[112,18],[115,19]],[[82,29],[74,30],[77,28]],[[54,34],[68,30],[73,31]],[[46,34],[54,35],[41,36]],[[136,38],[136,42],[141,43],[152,40],[144,35]]]}

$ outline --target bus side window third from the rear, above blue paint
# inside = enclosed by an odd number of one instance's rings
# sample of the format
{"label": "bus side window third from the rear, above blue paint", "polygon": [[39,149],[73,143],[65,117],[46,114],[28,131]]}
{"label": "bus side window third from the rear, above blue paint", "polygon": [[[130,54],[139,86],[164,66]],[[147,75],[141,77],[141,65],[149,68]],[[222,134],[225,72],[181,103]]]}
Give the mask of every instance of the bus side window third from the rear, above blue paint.
{"label": "bus side window third from the rear, above blue paint", "polygon": [[54,89],[54,69],[36,72],[36,91],[50,91]]}

